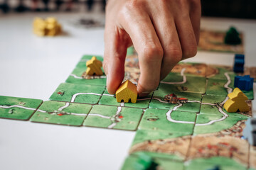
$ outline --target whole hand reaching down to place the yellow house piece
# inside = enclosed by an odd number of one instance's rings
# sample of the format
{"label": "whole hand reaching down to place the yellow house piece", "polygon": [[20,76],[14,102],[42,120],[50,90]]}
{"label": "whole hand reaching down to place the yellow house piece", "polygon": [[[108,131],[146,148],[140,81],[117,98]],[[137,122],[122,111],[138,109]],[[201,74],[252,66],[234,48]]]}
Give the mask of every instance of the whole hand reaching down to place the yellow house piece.
{"label": "whole hand reaching down to place the yellow house piece", "polygon": [[197,52],[200,0],[108,0],[103,69],[107,91],[114,94],[124,79],[127,47],[139,56],[139,96],[154,91],[181,60]]}

